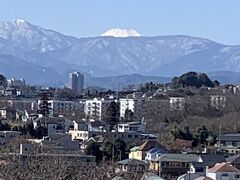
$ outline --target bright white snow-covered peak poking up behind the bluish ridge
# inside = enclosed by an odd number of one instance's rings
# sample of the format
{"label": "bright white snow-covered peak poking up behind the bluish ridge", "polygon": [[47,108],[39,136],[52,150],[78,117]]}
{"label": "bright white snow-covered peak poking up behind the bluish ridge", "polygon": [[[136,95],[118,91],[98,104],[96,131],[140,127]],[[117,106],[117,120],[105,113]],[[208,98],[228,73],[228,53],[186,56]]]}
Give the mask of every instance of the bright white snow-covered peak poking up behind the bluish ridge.
{"label": "bright white snow-covered peak poking up behind the bluish ridge", "polygon": [[141,36],[140,33],[135,31],[134,29],[121,29],[114,28],[106,31],[101,34],[101,36],[112,36],[112,37],[138,37]]}

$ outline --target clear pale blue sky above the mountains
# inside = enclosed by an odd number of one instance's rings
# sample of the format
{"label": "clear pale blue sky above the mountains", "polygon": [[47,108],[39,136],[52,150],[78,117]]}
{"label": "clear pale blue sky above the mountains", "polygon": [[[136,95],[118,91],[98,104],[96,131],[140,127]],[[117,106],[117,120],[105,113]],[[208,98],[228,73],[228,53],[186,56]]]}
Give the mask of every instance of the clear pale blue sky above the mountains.
{"label": "clear pale blue sky above the mountains", "polygon": [[114,27],[145,36],[192,35],[240,44],[239,0],[1,0],[0,20],[16,18],[77,37]]}

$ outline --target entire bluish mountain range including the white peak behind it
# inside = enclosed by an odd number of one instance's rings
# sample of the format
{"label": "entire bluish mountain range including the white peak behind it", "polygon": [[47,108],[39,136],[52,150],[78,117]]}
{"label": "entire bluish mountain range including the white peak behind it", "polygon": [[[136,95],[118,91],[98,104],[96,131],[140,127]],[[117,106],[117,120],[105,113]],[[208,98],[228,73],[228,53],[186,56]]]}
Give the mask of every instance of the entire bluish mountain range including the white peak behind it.
{"label": "entire bluish mountain range including the white peak behind it", "polygon": [[112,87],[110,82],[161,82],[198,71],[240,83],[240,46],[184,35],[144,37],[135,30],[102,35],[76,38],[23,19],[1,22],[0,73],[31,84],[63,85],[69,72],[80,71],[87,84]]}

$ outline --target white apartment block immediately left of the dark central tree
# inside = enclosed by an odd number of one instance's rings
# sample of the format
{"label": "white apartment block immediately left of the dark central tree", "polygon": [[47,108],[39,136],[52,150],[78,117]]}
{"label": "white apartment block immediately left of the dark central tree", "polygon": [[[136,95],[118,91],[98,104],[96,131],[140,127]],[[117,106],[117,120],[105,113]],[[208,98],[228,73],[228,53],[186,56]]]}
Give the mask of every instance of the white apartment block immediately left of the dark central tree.
{"label": "white apartment block immediately left of the dark central tree", "polygon": [[85,115],[94,120],[102,120],[111,102],[112,100],[87,99],[84,107]]}

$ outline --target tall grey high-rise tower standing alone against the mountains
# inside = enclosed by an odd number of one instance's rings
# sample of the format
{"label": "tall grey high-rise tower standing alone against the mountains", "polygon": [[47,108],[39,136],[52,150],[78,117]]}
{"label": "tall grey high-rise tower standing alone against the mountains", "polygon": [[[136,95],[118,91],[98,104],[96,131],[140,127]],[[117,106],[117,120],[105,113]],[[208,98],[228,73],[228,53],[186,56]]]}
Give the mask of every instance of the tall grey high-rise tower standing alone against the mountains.
{"label": "tall grey high-rise tower standing alone against the mountains", "polygon": [[70,73],[69,76],[70,88],[77,94],[83,94],[84,88],[84,75],[80,72]]}

